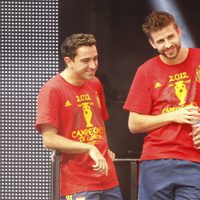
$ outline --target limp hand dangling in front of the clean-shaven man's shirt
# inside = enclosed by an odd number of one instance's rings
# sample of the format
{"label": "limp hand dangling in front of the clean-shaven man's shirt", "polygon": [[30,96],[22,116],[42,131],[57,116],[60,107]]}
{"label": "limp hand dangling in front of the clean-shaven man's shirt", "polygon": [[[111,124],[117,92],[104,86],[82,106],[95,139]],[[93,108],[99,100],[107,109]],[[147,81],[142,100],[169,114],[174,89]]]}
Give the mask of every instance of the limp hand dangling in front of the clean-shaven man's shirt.
{"label": "limp hand dangling in front of the clean-shaven man's shirt", "polygon": [[90,157],[94,160],[95,164],[92,166],[95,171],[105,173],[108,175],[108,164],[103,155],[99,152],[96,146],[91,146],[89,150]]}

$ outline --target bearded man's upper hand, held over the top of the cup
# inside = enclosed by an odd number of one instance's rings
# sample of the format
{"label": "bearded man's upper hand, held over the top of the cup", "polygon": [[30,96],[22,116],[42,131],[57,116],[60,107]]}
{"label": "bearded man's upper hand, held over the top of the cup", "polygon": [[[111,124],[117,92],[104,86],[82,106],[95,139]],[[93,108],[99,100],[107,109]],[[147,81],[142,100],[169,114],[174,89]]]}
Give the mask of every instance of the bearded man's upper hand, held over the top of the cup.
{"label": "bearded man's upper hand, held over the top of the cup", "polygon": [[194,124],[200,119],[199,107],[197,106],[186,106],[169,114],[172,121],[180,124]]}

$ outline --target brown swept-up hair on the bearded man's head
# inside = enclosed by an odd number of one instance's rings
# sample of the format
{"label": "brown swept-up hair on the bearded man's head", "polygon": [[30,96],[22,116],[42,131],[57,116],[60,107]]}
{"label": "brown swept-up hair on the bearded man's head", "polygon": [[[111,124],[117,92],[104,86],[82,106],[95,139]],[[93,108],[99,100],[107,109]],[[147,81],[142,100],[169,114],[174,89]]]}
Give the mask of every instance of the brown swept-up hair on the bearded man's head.
{"label": "brown swept-up hair on the bearded man's head", "polygon": [[161,30],[170,24],[174,24],[175,28],[178,29],[178,25],[173,15],[164,11],[153,11],[145,18],[142,30],[149,38],[151,38],[152,32]]}

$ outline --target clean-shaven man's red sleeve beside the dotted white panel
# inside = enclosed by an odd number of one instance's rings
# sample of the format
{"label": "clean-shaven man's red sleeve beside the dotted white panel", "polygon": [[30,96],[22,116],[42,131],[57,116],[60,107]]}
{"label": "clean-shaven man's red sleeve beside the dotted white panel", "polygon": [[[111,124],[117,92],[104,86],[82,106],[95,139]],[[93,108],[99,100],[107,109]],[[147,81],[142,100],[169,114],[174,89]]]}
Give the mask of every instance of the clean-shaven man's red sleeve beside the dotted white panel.
{"label": "clean-shaven man's red sleeve beside the dotted white panel", "polygon": [[36,129],[41,132],[41,124],[50,124],[58,127],[58,95],[56,90],[44,85],[37,100]]}

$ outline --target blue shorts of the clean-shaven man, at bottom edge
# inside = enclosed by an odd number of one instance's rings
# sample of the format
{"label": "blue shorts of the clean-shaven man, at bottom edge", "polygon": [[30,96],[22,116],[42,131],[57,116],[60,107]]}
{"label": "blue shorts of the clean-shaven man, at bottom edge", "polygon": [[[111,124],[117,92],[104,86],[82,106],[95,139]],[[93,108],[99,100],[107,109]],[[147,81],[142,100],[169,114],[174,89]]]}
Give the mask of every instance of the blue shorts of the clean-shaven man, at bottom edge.
{"label": "blue shorts of the clean-shaven man, at bottom edge", "polygon": [[120,188],[114,187],[108,190],[95,190],[80,192],[61,197],[60,200],[123,200]]}

